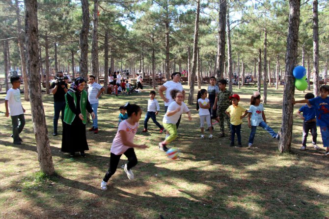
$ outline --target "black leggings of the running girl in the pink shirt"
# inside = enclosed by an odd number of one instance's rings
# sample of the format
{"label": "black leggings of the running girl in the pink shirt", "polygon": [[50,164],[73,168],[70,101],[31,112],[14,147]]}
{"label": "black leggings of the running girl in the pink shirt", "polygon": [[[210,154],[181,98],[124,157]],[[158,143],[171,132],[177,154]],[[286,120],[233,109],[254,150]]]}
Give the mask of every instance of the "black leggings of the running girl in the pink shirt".
{"label": "black leggings of the running girl in the pink shirt", "polygon": [[[127,169],[130,170],[131,168],[135,167],[137,164],[137,157],[135,154],[134,147],[129,148],[123,154],[128,158]],[[122,154],[115,155],[115,154],[111,153],[110,167],[103,178],[104,182],[109,181],[110,177],[115,173],[116,169],[118,168],[118,164],[119,164],[121,155]]]}

